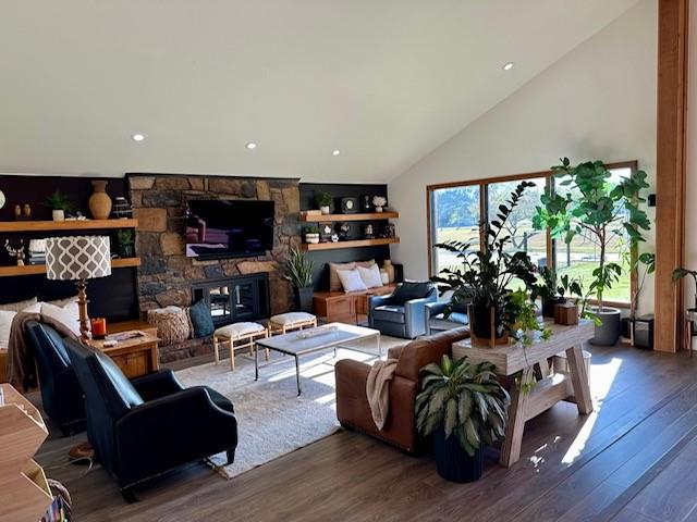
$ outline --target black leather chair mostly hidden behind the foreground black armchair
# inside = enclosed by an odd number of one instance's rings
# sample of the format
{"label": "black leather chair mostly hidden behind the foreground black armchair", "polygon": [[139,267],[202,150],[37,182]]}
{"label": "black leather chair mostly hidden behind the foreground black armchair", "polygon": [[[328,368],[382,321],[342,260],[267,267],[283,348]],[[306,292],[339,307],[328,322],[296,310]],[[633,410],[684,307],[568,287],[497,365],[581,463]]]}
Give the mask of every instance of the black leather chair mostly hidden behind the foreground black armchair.
{"label": "black leather chair mostly hidden behind the foreground black armchair", "polygon": [[58,332],[36,321],[26,325],[27,341],[34,349],[46,414],[63,435],[85,430],[85,401],[63,338]]}

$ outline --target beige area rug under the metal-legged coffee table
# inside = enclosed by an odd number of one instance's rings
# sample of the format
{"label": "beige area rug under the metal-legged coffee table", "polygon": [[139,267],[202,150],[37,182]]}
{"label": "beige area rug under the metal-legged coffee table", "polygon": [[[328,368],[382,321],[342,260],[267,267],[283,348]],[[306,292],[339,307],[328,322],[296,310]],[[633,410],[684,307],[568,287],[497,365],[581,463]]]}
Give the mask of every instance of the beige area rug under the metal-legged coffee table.
{"label": "beige area rug under the metal-legged coffee table", "polygon": [[[381,336],[382,356],[404,339]],[[225,462],[224,453],[211,460],[227,478],[331,435],[339,428],[334,394],[334,364],[339,359],[354,359],[370,364],[377,360],[375,340],[356,345],[363,351],[339,348],[301,357],[301,387],[295,387],[295,362],[292,357],[271,352],[264,361],[259,352],[259,381],[254,381],[254,360],[237,352],[235,371],[230,361],[203,364],[176,372],[185,386],[210,386],[235,407],[239,443],[235,461]]]}

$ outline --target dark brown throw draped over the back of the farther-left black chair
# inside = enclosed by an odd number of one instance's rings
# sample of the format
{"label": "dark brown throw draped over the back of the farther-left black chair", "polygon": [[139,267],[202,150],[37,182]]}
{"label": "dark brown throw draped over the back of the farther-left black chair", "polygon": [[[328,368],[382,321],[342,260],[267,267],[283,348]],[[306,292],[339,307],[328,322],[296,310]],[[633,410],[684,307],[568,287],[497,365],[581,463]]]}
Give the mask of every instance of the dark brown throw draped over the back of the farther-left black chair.
{"label": "dark brown throw draped over the back of the farther-left black chair", "polygon": [[37,321],[52,327],[62,337],[78,340],[75,334],[63,323],[40,313],[19,312],[10,326],[8,343],[8,382],[25,391],[38,386],[34,349],[26,338],[26,323]]}

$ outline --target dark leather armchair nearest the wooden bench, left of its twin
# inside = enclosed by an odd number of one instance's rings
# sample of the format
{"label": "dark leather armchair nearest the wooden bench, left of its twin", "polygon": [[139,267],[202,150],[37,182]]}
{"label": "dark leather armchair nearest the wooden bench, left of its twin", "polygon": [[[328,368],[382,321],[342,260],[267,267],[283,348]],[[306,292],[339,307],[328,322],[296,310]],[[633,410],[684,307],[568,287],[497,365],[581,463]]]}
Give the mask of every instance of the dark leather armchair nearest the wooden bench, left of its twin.
{"label": "dark leather armchair nearest the wooden bench, left of its twin", "polygon": [[389,296],[370,296],[368,323],[383,334],[414,339],[426,333],[426,304],[437,299],[431,283],[401,283]]}

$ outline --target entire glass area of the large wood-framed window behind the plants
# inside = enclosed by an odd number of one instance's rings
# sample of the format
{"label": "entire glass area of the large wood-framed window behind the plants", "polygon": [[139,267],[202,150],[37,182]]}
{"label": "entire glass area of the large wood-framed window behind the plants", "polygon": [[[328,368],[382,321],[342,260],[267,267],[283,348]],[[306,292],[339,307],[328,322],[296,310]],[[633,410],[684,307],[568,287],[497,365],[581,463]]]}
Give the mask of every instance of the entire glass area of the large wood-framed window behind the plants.
{"label": "entire glass area of the large wood-framed window behind the plants", "polygon": [[[609,164],[608,169],[612,172],[610,183],[616,184],[636,167],[636,162]],[[454,254],[433,249],[431,246],[457,239],[469,241],[473,250],[478,249],[481,241],[480,216],[488,216],[487,221],[494,219],[499,204],[509,199],[511,191],[523,179],[533,182],[535,186],[526,189],[521,203],[509,220],[508,232],[512,237],[511,251],[525,251],[535,264],[540,268],[551,265],[559,275],[571,274],[574,277],[583,277],[586,288],[588,287],[600,253],[594,238],[584,234],[576,236],[571,245],[565,245],[562,240],[552,241],[549,232],[533,228],[531,220],[535,215],[535,207],[539,204],[539,197],[547,187],[553,186],[551,172],[427,187],[431,275],[438,274],[447,266],[460,264]],[[554,189],[563,190],[563,187],[554,187]],[[619,223],[609,244],[607,259],[620,263],[623,275],[620,282],[603,296],[609,301],[628,303],[631,300],[631,288],[635,275],[629,270],[631,253],[626,234],[622,224]]]}

